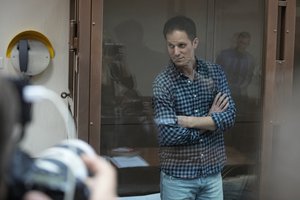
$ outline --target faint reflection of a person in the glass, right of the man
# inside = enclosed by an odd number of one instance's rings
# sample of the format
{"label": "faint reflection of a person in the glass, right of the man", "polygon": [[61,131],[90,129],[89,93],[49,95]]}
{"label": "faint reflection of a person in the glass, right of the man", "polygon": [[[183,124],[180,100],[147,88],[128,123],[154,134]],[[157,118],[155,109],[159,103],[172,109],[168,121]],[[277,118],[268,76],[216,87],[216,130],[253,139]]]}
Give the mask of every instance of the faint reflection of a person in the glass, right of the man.
{"label": "faint reflection of a person in the glass, right of the man", "polygon": [[250,33],[240,32],[235,46],[222,50],[216,59],[216,63],[224,68],[234,97],[247,96],[247,88],[253,76],[256,64],[254,57],[247,51],[250,41]]}

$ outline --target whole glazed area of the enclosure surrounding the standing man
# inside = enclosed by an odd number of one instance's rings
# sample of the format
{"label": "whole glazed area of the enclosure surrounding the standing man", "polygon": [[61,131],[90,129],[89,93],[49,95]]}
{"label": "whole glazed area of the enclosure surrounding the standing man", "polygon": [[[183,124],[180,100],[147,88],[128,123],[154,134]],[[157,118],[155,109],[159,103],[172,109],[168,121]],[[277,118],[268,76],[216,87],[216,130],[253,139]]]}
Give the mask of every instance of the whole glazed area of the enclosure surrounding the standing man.
{"label": "whole glazed area of the enclosure surrounding the standing man", "polygon": [[101,154],[116,164],[120,196],[159,192],[152,82],[169,61],[162,27],[176,14],[195,20],[200,37],[196,53],[204,59],[216,61],[223,49],[234,45],[238,32],[251,35],[247,56],[255,61],[246,66],[251,77],[244,76],[245,69],[238,76],[240,81],[249,78],[249,84],[245,81],[235,96],[239,113],[236,126],[225,134],[228,163],[223,173],[225,199],[248,195],[243,191],[255,177],[260,125],[262,5],[260,0],[104,1]]}

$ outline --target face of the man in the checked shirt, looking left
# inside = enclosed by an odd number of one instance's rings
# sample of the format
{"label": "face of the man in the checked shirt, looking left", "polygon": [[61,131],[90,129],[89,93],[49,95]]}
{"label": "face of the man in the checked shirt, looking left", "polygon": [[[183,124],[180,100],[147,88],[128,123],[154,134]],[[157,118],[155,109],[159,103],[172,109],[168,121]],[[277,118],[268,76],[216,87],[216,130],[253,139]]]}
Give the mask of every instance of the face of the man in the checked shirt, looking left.
{"label": "face of the man in the checked shirt, looking left", "polygon": [[166,40],[169,56],[177,67],[194,65],[198,38],[191,41],[185,31],[175,30],[166,35]]}

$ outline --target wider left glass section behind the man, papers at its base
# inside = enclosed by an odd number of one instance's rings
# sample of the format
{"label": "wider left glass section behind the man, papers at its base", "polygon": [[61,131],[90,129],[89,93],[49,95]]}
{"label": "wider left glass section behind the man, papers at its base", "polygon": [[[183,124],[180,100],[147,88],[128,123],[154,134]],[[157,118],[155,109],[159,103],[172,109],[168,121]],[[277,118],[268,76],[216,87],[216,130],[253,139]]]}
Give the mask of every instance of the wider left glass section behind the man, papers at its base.
{"label": "wider left glass section behind the man, papers at its base", "polygon": [[[205,38],[206,0],[104,1],[101,153],[131,155],[148,165],[125,158],[137,166],[118,168],[120,195],[159,192],[152,82],[169,61],[163,24],[170,16],[187,13],[198,19],[199,34]],[[198,53],[204,54],[205,40],[201,43]]]}

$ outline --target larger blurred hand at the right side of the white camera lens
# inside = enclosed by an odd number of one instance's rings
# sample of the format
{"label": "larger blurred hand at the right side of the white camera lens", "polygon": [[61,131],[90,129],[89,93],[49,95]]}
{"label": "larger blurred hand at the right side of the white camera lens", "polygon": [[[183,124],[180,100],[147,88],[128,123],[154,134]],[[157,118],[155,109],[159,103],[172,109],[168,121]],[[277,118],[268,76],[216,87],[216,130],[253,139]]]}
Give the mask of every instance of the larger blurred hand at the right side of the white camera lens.
{"label": "larger blurred hand at the right side of the white camera lens", "polygon": [[93,174],[86,180],[91,195],[89,200],[116,200],[117,178],[115,168],[100,156],[83,155],[82,159]]}

